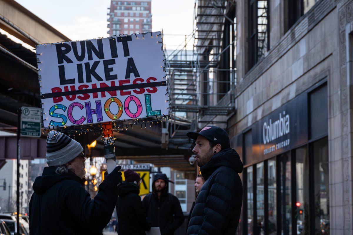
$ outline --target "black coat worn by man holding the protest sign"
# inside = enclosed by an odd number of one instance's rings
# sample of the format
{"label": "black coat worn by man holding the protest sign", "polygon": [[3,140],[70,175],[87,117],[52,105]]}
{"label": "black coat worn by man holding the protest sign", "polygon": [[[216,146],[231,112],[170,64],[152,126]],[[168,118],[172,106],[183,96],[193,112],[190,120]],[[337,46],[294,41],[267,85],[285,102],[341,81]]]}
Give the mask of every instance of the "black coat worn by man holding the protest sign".
{"label": "black coat worn by man holding the protest sign", "polygon": [[106,178],[91,199],[82,179],[73,173],[55,174],[55,169],[45,167],[34,181],[29,203],[30,234],[102,234],[118,199],[116,184]]}

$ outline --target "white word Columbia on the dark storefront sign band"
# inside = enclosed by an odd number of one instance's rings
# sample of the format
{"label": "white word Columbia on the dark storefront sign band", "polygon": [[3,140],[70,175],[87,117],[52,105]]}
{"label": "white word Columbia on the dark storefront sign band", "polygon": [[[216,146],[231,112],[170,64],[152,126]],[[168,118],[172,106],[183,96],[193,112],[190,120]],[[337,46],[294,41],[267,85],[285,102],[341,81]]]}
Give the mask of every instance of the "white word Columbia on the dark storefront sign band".
{"label": "white word Columbia on the dark storefront sign band", "polygon": [[289,115],[283,111],[280,117],[274,123],[270,119],[269,123],[265,122],[262,128],[263,143],[267,144],[279,137],[289,134]]}

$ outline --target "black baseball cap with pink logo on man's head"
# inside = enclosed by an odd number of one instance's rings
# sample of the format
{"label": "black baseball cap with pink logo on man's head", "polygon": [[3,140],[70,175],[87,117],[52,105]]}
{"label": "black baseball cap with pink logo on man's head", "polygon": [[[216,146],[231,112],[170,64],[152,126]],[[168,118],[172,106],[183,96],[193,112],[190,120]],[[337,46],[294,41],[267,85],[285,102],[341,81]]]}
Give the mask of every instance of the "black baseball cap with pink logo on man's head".
{"label": "black baseball cap with pink logo on man's head", "polygon": [[199,135],[207,138],[210,142],[220,144],[222,149],[231,147],[227,131],[218,126],[205,126],[200,132],[187,132],[187,137],[196,140]]}

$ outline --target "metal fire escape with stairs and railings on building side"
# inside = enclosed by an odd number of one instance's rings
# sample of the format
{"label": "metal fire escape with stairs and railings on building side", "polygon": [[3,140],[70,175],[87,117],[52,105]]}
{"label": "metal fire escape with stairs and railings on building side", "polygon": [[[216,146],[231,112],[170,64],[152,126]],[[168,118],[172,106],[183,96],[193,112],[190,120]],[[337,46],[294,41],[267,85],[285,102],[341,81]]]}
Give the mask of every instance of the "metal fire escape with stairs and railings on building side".
{"label": "metal fire escape with stairs and railings on building side", "polygon": [[[225,45],[223,40],[225,23],[234,25],[227,17],[227,8],[234,4],[232,0],[195,0],[193,33],[185,36],[177,50],[166,53],[172,101],[169,143],[179,148],[190,148],[192,141],[186,132],[225,124],[224,117],[235,112],[235,63],[226,68],[221,65],[223,53],[230,47],[234,50],[236,42]],[[193,50],[186,50],[191,42]]]}

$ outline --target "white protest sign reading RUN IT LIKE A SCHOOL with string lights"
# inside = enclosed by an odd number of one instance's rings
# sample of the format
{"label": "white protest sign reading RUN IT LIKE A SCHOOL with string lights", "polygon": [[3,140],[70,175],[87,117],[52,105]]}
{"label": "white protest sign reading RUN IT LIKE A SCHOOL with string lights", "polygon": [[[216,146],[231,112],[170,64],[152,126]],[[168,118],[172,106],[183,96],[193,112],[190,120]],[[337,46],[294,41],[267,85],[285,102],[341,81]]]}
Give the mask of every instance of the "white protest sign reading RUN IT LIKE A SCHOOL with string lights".
{"label": "white protest sign reading RUN IT LIKE A SCHOOL with string lights", "polygon": [[36,47],[44,127],[169,114],[161,32]]}

